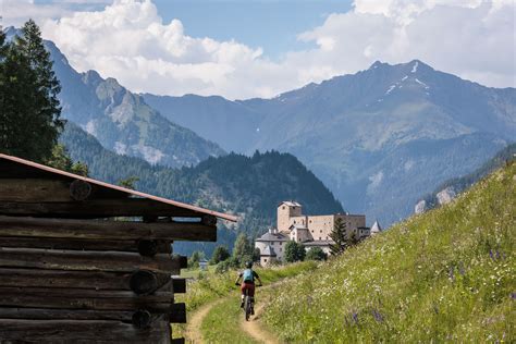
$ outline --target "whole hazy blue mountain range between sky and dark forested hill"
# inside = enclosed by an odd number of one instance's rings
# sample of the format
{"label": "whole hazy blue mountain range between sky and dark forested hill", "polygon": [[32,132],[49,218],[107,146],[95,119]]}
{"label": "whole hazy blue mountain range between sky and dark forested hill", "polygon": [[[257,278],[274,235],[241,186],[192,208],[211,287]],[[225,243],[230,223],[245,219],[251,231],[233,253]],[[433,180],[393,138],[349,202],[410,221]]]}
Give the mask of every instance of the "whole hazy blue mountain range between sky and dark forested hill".
{"label": "whole hazy blue mountain range between sky and dark forested hill", "polygon": [[63,116],[107,149],[173,168],[226,151],[290,152],[346,210],[384,226],[516,137],[516,89],[484,87],[419,60],[374,62],[272,99],[233,101],[136,95],[95,71],[76,72],[58,47],[47,47]]}

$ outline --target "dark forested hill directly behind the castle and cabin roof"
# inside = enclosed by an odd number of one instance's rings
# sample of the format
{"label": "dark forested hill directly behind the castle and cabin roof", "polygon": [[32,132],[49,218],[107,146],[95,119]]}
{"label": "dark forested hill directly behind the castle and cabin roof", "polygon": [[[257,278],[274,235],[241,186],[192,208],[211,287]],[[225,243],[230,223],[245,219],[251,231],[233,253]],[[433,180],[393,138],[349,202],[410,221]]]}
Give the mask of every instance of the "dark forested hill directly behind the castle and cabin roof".
{"label": "dark forested hill directly behind the castle and cabin roof", "polygon": [[[261,234],[275,223],[277,206],[295,199],[312,213],[342,212],[341,204],[314,173],[294,156],[269,151],[253,157],[230,153],[209,158],[191,168],[151,165],[134,157],[116,155],[78,126],[69,123],[61,136],[74,160],[86,162],[93,177],[118,183],[137,176],[136,188],[146,193],[195,204],[239,217],[236,231],[220,232],[221,242],[232,246],[235,233]],[[183,251],[213,245],[179,244]]]}

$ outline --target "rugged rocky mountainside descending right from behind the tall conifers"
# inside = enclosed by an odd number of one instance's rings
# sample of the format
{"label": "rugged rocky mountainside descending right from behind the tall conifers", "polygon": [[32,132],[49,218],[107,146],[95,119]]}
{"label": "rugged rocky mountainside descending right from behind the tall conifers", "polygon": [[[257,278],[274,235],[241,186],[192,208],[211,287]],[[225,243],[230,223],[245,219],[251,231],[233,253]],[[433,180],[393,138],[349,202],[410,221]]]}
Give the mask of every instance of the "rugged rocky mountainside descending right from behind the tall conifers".
{"label": "rugged rocky mountainside descending right from behind the tall conifers", "polygon": [[[5,29],[8,39],[19,35]],[[61,82],[62,116],[94,135],[103,147],[150,163],[182,167],[225,153],[217,144],[174,124],[143,97],[97,72],[76,72],[52,41],[45,41]]]}

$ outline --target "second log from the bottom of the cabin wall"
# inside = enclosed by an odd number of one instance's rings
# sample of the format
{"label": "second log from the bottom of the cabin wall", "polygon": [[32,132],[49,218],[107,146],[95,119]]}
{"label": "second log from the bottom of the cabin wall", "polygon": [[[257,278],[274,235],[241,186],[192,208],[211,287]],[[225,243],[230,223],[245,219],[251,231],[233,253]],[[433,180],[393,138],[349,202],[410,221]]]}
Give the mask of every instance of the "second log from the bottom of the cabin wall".
{"label": "second log from the bottom of the cabin wall", "polygon": [[0,308],[52,308],[89,310],[147,309],[156,314],[173,310],[174,294],[157,292],[136,296],[133,292],[77,288],[0,287]]}

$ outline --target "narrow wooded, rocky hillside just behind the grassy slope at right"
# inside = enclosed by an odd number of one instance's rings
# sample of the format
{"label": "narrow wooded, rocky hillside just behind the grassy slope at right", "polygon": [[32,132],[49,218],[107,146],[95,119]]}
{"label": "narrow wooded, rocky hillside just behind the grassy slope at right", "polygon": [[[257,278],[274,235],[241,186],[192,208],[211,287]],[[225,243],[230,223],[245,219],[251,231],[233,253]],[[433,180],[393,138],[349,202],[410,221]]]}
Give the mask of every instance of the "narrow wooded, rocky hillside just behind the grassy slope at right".
{"label": "narrow wooded, rocky hillside just behind the grassy slope at right", "polygon": [[416,213],[433,209],[441,204],[455,198],[486,175],[514,160],[516,160],[516,144],[511,144],[500,150],[493,158],[489,159],[474,172],[464,176],[451,179],[439,185],[433,193],[422,197],[422,199],[416,205]]}

